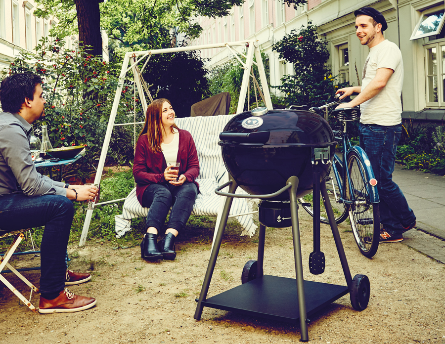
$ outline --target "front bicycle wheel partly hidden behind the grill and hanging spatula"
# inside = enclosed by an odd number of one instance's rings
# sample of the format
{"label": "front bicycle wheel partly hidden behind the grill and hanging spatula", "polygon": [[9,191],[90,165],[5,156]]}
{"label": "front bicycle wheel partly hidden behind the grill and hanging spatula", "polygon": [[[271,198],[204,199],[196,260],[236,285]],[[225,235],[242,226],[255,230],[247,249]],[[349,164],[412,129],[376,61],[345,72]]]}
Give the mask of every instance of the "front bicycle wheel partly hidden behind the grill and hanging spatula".
{"label": "front bicycle wheel partly hidden behind the grill and hanging spatula", "polygon": [[[331,168],[331,172],[325,178],[326,180],[326,191],[329,195],[329,201],[331,202],[332,210],[335,215],[335,222],[342,223],[344,220],[348,218],[348,209],[344,206],[344,204],[340,203],[340,191],[338,188],[337,178],[335,178],[335,173]],[[337,196],[337,198],[335,197]],[[302,203],[302,207],[306,210],[311,216],[313,216],[313,207],[312,207],[312,192],[303,198],[300,198],[299,201]],[[305,205],[310,204],[308,206]],[[329,224],[329,219],[327,217],[326,210],[324,209],[323,199],[320,197],[320,222]]]}

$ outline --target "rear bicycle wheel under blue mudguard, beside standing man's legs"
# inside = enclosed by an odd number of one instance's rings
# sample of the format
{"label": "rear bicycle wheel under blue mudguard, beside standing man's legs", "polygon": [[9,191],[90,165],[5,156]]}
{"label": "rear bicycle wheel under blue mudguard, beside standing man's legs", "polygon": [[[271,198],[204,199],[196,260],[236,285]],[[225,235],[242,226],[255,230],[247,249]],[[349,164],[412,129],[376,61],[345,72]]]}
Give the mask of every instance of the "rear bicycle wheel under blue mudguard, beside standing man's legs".
{"label": "rear bicycle wheel under blue mudguard, beside standing man's legs", "polygon": [[352,202],[349,206],[351,229],[361,254],[371,258],[376,254],[379,247],[379,204],[370,201],[369,180],[363,168],[363,162],[356,152],[348,153],[347,164],[352,184],[352,188],[350,188],[348,180],[346,180],[346,195],[348,200]]}

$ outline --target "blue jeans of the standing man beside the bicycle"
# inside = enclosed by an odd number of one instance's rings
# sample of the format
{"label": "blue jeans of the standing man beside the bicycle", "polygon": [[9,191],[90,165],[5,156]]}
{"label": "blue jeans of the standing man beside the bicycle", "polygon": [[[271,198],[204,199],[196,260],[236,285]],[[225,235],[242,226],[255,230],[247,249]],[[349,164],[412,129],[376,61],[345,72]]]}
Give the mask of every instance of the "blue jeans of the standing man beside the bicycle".
{"label": "blue jeans of the standing man beside the bicycle", "polygon": [[380,223],[391,234],[403,233],[403,227],[416,220],[401,189],[392,179],[401,131],[401,124],[385,127],[360,123],[359,126],[360,146],[368,155],[377,179]]}

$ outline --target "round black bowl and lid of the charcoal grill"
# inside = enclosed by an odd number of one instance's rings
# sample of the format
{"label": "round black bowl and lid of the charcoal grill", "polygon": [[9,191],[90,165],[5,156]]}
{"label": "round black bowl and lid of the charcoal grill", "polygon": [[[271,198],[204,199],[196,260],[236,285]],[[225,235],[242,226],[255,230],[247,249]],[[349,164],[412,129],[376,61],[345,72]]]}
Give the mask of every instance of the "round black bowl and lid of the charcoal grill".
{"label": "round black bowl and lid of the charcoal grill", "polygon": [[[255,110],[232,118],[220,134],[227,171],[252,195],[276,192],[292,175],[299,178],[297,197],[312,192],[314,154],[323,150],[324,164],[319,168],[323,179],[334,157],[329,124],[309,111]],[[287,200],[289,195],[273,199]]]}

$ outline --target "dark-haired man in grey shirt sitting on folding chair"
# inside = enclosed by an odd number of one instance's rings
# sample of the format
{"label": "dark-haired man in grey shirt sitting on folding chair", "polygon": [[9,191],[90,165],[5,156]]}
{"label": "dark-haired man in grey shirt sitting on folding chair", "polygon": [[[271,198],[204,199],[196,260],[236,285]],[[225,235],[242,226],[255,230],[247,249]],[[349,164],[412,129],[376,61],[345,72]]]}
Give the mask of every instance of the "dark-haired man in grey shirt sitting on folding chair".
{"label": "dark-haired man in grey shirt sitting on folding chair", "polygon": [[90,274],[67,270],[65,253],[74,216],[72,201],[93,200],[96,190],[68,185],[36,171],[31,158],[31,124],[45,111],[42,80],[16,74],[0,85],[0,230],[45,226],[41,245],[40,313],[76,312],[96,303],[65,285],[86,282]]}

